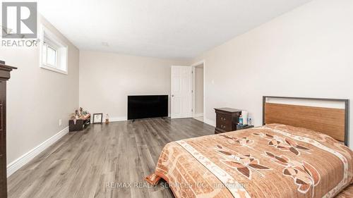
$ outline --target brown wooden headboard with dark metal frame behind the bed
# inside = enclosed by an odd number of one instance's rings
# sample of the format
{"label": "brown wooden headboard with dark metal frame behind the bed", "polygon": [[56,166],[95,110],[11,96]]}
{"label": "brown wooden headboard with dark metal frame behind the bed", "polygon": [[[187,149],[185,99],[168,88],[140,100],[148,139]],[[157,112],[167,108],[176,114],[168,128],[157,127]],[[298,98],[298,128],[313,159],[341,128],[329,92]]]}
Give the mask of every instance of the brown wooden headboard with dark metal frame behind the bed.
{"label": "brown wooden headboard with dark metal frame behind the bed", "polygon": [[[286,104],[286,101],[293,102]],[[296,101],[299,101],[299,103],[296,104]],[[301,104],[304,101],[306,104]],[[340,105],[328,107],[315,103]],[[348,99],[265,96],[263,97],[263,125],[280,123],[307,128],[330,135],[335,140],[345,142],[345,145],[348,145],[348,110]]]}

